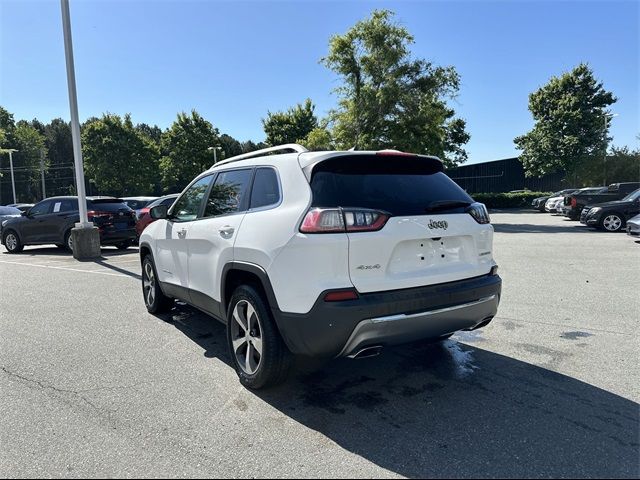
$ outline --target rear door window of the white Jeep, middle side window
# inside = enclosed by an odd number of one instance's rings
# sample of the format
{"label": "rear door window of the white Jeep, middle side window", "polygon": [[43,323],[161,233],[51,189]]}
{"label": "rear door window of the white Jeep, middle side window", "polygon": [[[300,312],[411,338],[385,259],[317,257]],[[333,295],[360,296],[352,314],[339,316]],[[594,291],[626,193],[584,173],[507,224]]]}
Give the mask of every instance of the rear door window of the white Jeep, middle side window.
{"label": "rear door window of the white Jeep, middle side window", "polygon": [[204,209],[205,217],[217,217],[246,208],[245,197],[251,181],[251,169],[232,170],[218,175]]}

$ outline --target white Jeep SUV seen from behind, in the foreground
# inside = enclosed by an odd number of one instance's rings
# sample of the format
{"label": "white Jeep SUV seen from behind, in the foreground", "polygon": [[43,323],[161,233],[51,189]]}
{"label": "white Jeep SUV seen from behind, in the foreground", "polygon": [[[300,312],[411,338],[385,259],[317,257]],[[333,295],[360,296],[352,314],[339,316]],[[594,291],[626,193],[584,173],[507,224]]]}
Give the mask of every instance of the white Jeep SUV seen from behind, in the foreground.
{"label": "white Jeep SUV seen from behind, in the foreground", "polygon": [[497,312],[489,215],[435,157],[272,147],[218,162],[151,215],[147,309],[180,299],[225,323],[249,388],[283,381],[293,355],[362,358]]}

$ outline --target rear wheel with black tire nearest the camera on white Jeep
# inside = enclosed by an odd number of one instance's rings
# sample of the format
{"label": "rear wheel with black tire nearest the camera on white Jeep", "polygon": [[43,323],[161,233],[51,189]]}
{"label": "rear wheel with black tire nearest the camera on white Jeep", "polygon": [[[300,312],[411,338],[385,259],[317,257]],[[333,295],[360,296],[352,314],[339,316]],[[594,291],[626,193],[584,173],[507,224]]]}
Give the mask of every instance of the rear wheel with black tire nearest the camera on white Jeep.
{"label": "rear wheel with black tire nearest the camera on white Jeep", "polygon": [[293,356],[284,344],[271,310],[253,287],[236,289],[227,312],[227,342],[240,383],[250,389],[286,380]]}

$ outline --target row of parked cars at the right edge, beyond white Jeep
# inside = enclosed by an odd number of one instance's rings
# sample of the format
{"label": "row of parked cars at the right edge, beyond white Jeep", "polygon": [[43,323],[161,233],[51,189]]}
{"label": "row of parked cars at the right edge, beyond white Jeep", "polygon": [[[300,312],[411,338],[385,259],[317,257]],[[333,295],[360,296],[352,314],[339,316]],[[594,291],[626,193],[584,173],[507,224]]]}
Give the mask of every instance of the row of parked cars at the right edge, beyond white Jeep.
{"label": "row of parked cars at the right edge, beyond white Jeep", "polygon": [[531,206],[599,230],[640,235],[640,182],[562,190],[534,199]]}

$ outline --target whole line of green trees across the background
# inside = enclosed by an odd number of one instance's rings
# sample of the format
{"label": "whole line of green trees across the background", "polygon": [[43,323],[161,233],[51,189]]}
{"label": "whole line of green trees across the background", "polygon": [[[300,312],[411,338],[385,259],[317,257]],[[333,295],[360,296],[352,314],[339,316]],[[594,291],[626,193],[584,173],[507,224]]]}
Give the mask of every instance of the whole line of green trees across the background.
{"label": "whole line of green trees across the background", "polygon": [[[300,143],[310,150],[393,148],[436,155],[447,167],[467,159],[470,135],[451,106],[460,88],[453,66],[414,58],[411,33],[389,10],[375,10],[329,40],[320,62],[339,79],[337,106],[319,118],[311,99],[262,119],[263,142],[220,133],[196,110],[181,112],[167,129],[135,124],[131,115],[105,113],[81,126],[87,190],[103,195],[176,192],[217,159],[266,146]],[[613,148],[604,169],[609,107],[617,101],[586,64],[550,81],[529,97],[534,128],[514,139],[527,175],[565,172],[572,185],[637,180],[640,156]],[[214,153],[209,147],[219,147]],[[7,149],[13,154],[20,200],[75,192],[68,122],[15,121],[0,107],[0,203],[10,198]],[[10,187],[9,187],[10,188]]]}

